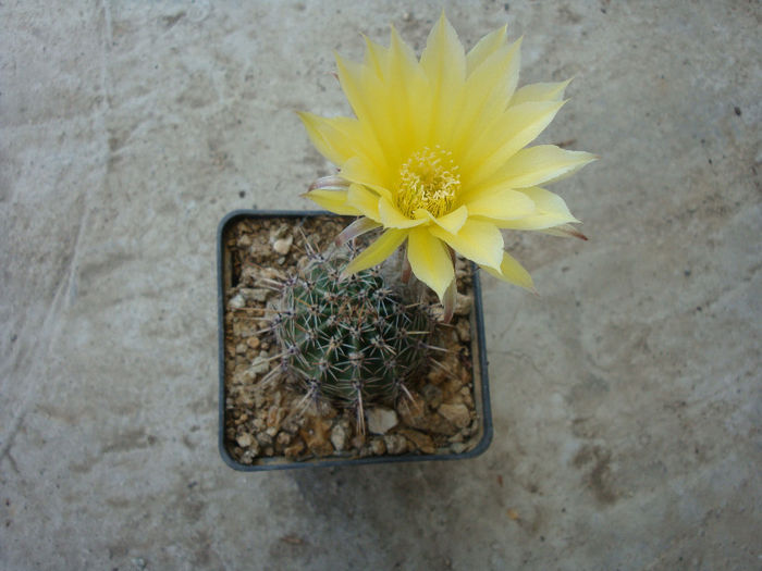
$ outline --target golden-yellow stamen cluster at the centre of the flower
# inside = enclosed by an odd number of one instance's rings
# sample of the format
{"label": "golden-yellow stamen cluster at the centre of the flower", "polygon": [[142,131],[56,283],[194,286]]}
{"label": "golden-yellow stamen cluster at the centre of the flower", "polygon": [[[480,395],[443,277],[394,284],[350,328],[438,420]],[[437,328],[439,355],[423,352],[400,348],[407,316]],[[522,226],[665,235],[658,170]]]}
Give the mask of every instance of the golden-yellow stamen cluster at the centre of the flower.
{"label": "golden-yellow stamen cluster at the centre of the flower", "polygon": [[460,175],[453,154],[439,145],[423,147],[413,153],[400,169],[397,208],[408,218],[415,218],[419,208],[432,216],[450,212],[460,188]]}

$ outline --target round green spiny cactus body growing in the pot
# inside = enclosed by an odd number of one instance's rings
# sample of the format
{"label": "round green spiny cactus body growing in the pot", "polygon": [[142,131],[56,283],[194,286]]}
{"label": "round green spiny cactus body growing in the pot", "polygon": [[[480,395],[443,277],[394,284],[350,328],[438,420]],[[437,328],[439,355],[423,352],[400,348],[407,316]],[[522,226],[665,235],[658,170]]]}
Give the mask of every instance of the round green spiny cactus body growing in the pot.
{"label": "round green spiny cactus body growing in the pot", "polygon": [[281,372],[307,394],[341,406],[393,402],[427,358],[433,318],[428,306],[405,305],[376,270],[343,277],[346,258],[311,260],[281,284],[272,320]]}

